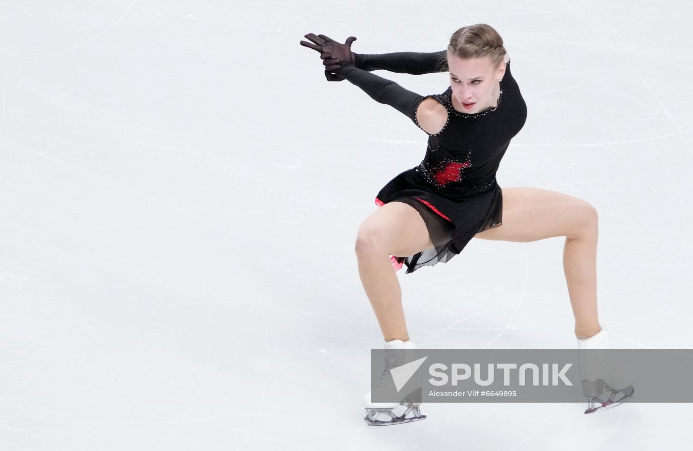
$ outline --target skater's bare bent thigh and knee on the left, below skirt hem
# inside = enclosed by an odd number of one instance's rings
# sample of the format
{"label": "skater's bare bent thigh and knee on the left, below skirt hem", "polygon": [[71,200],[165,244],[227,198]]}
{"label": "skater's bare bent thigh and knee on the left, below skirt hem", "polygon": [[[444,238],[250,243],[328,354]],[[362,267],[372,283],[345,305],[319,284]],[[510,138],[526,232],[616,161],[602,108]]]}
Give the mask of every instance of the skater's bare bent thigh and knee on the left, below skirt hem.
{"label": "skater's bare bent thigh and knee on the left, below skirt hem", "polygon": [[378,207],[359,227],[357,242],[394,256],[410,256],[433,247],[419,211],[404,202]]}

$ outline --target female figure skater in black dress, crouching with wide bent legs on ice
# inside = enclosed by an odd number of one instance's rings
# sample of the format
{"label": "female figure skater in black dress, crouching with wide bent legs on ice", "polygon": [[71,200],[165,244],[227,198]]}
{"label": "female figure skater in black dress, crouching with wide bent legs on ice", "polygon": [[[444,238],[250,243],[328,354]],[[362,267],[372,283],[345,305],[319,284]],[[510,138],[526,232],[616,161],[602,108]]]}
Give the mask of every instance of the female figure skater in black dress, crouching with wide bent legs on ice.
{"label": "female figure skater in black dress, crouching with wide bent legs on ice", "polygon": [[[527,118],[527,106],[510,71],[500,35],[491,26],[459,28],[444,51],[353,53],[345,44],[309,33],[302,46],[320,53],[328,81],[349,80],[379,103],[396,108],[428,134],[428,148],[416,168],[405,170],[376,196],[380,207],[358,230],[356,255],[364,290],[378,319],[386,349],[416,348],[410,341],[396,270],[448,262],[471,238],[529,242],[565,236],[563,269],[568,284],[578,347],[613,348],[597,317],[597,211],[583,200],[540,188],[503,188],[495,173],[510,140]],[[445,72],[443,94],[421,96],[374,69],[421,74]],[[391,264],[392,263],[392,264]],[[395,270],[392,270],[394,266]],[[387,370],[387,369],[386,369]],[[626,382],[606,381],[610,398],[590,397],[586,413],[629,399]],[[608,383],[611,382],[611,385]],[[603,384],[602,384],[603,385]],[[613,400],[615,394],[623,397]],[[364,397],[366,420],[389,425],[426,418],[419,403],[373,403]],[[392,411],[406,405],[406,411]],[[407,416],[413,413],[414,416]],[[376,419],[387,414],[390,421]]]}

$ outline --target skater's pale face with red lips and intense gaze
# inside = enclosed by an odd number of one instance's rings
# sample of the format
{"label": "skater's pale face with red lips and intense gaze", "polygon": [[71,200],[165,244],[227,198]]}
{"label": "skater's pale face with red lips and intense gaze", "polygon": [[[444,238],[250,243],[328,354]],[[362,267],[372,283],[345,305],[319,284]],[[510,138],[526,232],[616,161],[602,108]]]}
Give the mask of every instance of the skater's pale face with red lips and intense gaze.
{"label": "skater's pale face with red lips and intense gaze", "polygon": [[[455,109],[473,114],[497,105],[500,94],[498,80],[502,80],[505,74],[505,62],[493,67],[489,56],[462,59],[448,51],[448,68]],[[470,103],[473,103],[471,107],[464,105]]]}

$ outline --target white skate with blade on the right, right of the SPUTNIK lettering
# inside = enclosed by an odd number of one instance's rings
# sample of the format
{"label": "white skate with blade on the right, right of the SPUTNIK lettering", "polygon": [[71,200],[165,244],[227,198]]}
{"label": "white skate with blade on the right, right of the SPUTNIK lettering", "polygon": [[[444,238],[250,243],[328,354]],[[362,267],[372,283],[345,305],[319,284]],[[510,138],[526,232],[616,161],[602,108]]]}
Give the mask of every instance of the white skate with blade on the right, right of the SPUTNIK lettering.
{"label": "white skate with blade on the right, right of the SPUTNIK lettering", "polygon": [[[577,339],[578,350],[613,349],[606,326],[601,326],[602,330],[592,337]],[[613,360],[613,354],[599,351],[579,352],[578,361],[582,392],[588,398],[586,414],[623,404],[633,397],[635,389],[629,371]],[[600,398],[604,391],[609,392],[607,400]]]}

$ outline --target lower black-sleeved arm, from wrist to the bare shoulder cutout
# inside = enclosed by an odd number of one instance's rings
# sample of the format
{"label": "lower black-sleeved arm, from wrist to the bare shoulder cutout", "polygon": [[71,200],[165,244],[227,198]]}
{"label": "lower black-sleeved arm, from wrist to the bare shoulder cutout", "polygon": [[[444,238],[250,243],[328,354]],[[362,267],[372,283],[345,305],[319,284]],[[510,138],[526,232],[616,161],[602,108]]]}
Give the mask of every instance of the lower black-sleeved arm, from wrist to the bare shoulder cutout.
{"label": "lower black-sleeved arm, from wrist to the bare shoulder cutout", "polygon": [[335,72],[341,78],[346,78],[353,85],[360,87],[376,102],[394,107],[398,112],[410,118],[417,127],[421,128],[419,122],[416,121],[416,109],[419,107],[421,100],[426,98],[426,96],[416,94],[392,80],[376,76],[375,73],[358,69],[358,67],[344,66]]}

